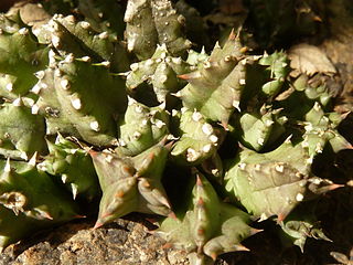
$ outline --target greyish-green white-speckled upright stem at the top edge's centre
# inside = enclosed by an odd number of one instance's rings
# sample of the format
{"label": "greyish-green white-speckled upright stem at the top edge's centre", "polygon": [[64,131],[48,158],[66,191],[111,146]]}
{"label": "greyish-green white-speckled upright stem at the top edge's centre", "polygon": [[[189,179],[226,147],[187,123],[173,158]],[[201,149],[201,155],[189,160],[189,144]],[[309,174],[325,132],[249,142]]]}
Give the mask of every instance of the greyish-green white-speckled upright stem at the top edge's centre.
{"label": "greyish-green white-speckled upright stem at the top edge's centre", "polygon": [[182,33],[184,17],[169,0],[129,0],[124,20],[128,50],[140,60],[151,57],[157,44],[165,43],[173,55],[181,55],[191,46]]}

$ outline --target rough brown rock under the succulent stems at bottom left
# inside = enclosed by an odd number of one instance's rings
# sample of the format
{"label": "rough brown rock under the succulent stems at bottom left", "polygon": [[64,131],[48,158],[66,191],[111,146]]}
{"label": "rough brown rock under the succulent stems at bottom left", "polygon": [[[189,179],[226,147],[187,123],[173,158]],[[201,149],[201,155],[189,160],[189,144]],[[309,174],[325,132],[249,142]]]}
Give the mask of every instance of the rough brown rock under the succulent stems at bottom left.
{"label": "rough brown rock under the succulent stems at bottom left", "polygon": [[149,233],[152,224],[132,219],[136,222],[119,219],[97,230],[92,229],[94,221],[62,225],[7,247],[0,265],[189,265],[186,253],[165,247]]}

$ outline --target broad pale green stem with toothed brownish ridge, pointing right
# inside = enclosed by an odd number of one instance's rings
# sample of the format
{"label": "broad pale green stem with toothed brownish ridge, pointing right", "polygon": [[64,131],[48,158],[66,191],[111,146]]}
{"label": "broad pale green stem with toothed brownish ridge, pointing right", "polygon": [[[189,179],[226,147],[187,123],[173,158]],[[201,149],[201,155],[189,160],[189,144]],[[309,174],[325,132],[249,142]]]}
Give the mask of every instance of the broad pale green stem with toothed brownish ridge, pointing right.
{"label": "broad pale green stem with toothed brownish ridge, pointing right", "polygon": [[258,153],[239,151],[229,166],[225,180],[227,191],[255,218],[266,220],[272,215],[282,221],[300,203],[312,195],[339,186],[312,176],[312,157],[306,145],[292,145],[287,139],[277,149]]}

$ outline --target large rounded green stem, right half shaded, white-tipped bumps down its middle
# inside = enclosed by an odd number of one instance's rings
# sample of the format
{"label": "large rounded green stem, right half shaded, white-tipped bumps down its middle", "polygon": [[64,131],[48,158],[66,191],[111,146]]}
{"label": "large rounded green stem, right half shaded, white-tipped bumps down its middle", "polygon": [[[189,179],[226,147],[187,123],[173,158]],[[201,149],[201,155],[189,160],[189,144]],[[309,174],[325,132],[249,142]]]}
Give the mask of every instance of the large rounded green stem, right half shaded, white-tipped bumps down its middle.
{"label": "large rounded green stem, right half shaded, white-tipped bumps down its middle", "polygon": [[[50,121],[49,134],[75,131],[74,136],[88,142],[111,144],[117,137],[116,119],[127,105],[122,81],[110,75],[105,64],[93,64],[72,54],[52,62],[52,67],[36,84],[40,98],[34,105]],[[92,82],[86,83],[87,78]]]}

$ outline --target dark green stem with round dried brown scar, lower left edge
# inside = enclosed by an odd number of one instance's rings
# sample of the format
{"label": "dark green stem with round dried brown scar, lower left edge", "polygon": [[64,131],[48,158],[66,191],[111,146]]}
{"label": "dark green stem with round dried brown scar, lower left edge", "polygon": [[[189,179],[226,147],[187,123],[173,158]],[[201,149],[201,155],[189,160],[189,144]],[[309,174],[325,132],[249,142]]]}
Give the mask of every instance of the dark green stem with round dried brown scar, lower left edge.
{"label": "dark green stem with round dried brown scar, lower left edge", "polygon": [[77,205],[36,168],[35,160],[36,153],[29,162],[1,160],[1,248],[40,229],[79,218]]}

